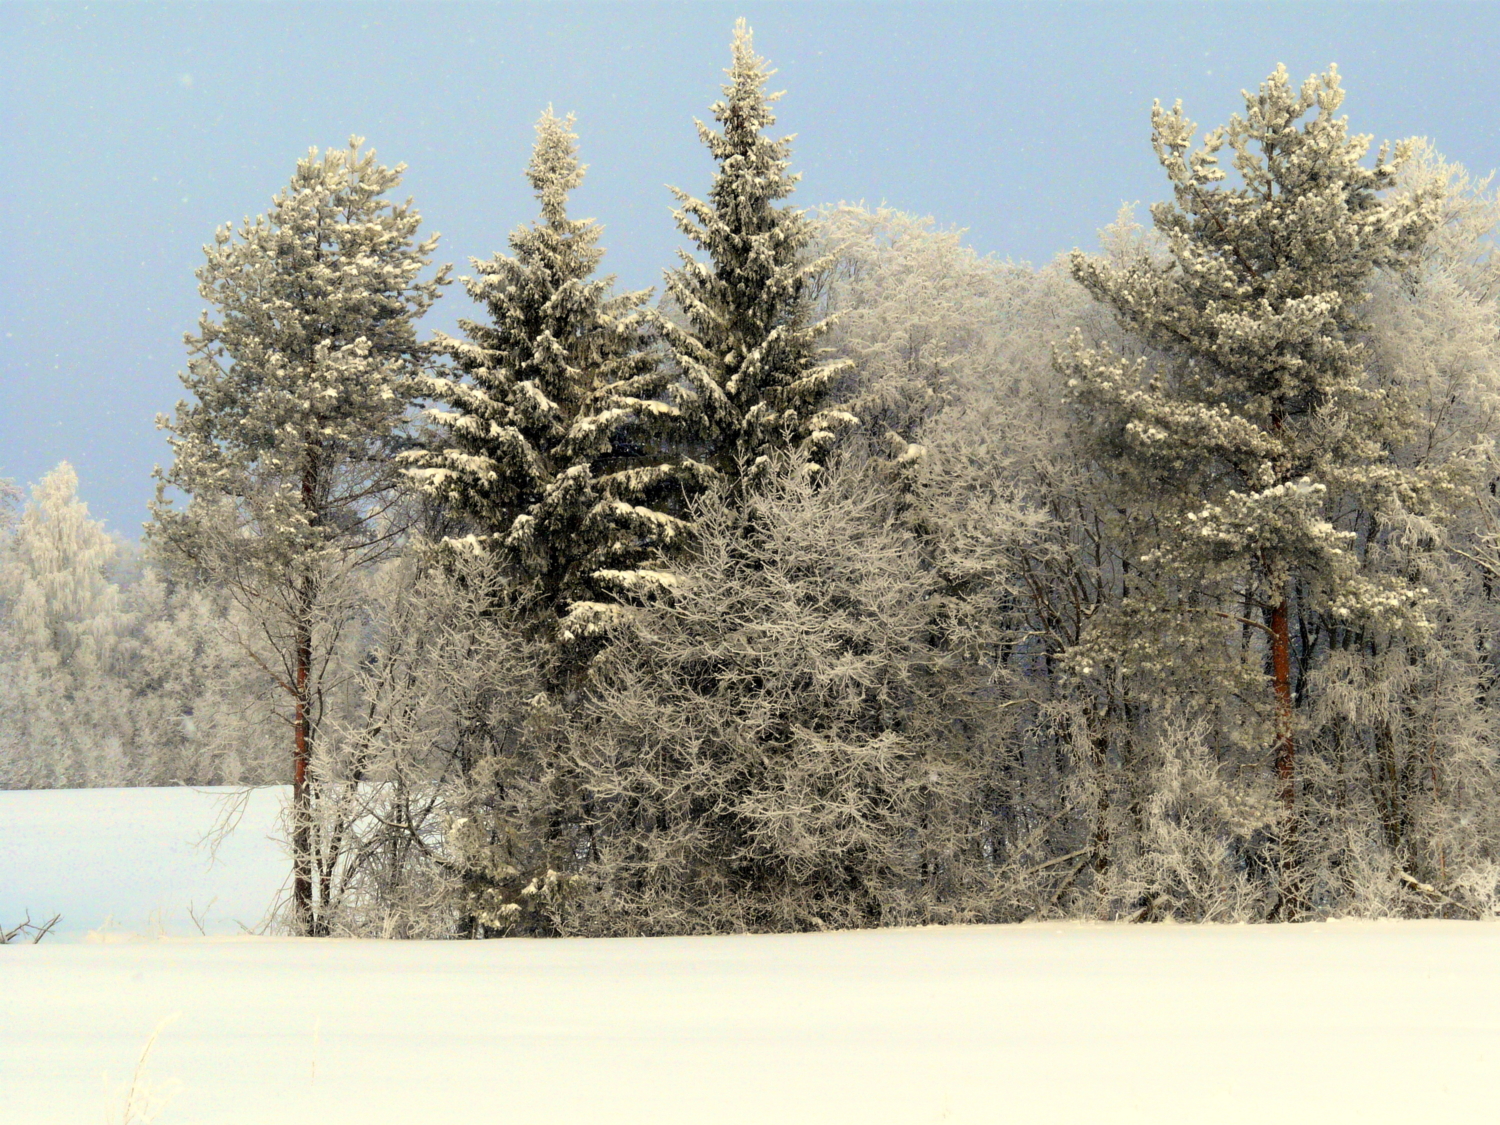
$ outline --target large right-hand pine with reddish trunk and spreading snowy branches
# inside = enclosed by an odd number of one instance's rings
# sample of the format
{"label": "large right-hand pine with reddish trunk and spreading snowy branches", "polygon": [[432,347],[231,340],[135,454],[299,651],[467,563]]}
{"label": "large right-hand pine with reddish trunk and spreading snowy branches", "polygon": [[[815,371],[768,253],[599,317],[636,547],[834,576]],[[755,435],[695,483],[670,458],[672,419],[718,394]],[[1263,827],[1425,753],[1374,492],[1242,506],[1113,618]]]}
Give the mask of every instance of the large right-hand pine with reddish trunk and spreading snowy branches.
{"label": "large right-hand pine with reddish trunk and spreading snowy branches", "polygon": [[[1197,152],[1180,102],[1156,104],[1152,144],[1174,201],[1152,218],[1167,254],[1074,254],[1072,273],[1161,362],[1082,340],[1059,357],[1106,466],[1149,507],[1161,537],[1131,560],[1154,580],[1137,584],[1148,620],[1125,638],[1125,658],[1172,666],[1173,654],[1154,651],[1170,620],[1173,630],[1216,621],[1264,638],[1287,916],[1300,906],[1293,730],[1308,628],[1320,612],[1422,626],[1413,584],[1359,573],[1330,501],[1396,512],[1422,504],[1432,484],[1389,458],[1413,414],[1395,388],[1366,378],[1359,308],[1374,270],[1400,270],[1419,252],[1436,202],[1388,190],[1408,144],[1382,148],[1374,168],[1360,164],[1370,138],[1350,136],[1335,117],[1342,98],[1335,69],[1298,92],[1278,68],[1245,93],[1245,117]],[[1222,183],[1224,144],[1239,186]]]}

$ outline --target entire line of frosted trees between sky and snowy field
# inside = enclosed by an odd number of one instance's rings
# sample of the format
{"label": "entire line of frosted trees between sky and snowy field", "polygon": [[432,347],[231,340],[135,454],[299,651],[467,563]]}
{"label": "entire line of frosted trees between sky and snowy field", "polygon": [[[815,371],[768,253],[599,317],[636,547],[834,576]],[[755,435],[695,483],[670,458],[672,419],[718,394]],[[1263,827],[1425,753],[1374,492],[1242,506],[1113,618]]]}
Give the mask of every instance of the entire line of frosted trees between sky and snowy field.
{"label": "entire line of frosted trees between sky and snowy field", "polygon": [[770,74],[656,302],[550,110],[459,336],[358,140],[220,230],[144,562],[8,518],[0,782],[291,782],[309,934],[1494,914],[1490,182],[1278,68],[1030,268],[789,206]]}

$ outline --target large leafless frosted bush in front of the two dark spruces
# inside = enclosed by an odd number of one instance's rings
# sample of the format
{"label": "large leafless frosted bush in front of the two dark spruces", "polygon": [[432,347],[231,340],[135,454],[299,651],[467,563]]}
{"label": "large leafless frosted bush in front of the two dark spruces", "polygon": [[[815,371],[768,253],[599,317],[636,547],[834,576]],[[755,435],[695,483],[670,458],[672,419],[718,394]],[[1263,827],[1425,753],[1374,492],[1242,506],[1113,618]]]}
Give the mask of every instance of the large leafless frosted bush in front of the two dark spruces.
{"label": "large leafless frosted bush in front of the two dark spruces", "polygon": [[[566,933],[990,916],[982,674],[933,644],[934,576],[868,466],[783,460],[694,510],[669,603],[564,716],[586,794]],[[753,531],[752,531],[753,528]]]}

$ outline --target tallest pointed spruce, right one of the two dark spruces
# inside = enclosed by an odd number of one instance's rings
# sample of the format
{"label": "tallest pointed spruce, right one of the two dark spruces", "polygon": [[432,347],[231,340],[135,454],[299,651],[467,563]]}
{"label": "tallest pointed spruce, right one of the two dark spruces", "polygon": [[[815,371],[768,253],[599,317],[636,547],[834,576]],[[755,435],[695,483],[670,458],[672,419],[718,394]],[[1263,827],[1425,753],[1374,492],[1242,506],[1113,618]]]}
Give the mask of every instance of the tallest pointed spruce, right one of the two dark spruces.
{"label": "tallest pointed spruce, right one of the two dark spruces", "polygon": [[708,198],[672,189],[678,230],[708,260],[680,250],[682,266],[666,274],[666,288],[684,322],[660,314],[656,322],[676,366],[684,441],[738,482],[766,470],[778,450],[801,446],[816,458],[855,418],[825,406],[849,364],[822,358],[828,322],[808,322],[810,280],[826,262],[807,255],[813,231],[802,213],[777,206],[800,177],[789,171],[792,138],[764,135],[782,94],[765,92],[774,70],[754,54],[744,20],[728,74],[711,106],[722,132],[698,122],[718,165]]}

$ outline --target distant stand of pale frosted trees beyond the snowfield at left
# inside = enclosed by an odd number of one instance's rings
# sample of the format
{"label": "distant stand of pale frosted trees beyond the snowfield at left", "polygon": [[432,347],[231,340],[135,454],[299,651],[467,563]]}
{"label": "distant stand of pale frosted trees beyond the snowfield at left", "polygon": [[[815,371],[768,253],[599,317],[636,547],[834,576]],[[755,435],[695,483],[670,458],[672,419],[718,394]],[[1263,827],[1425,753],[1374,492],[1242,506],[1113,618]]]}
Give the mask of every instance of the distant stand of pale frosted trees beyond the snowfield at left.
{"label": "distant stand of pale frosted trees beyond the snowfield at left", "polygon": [[141,570],[76,480],[46,474],[0,540],[0,786],[272,780],[224,600]]}

